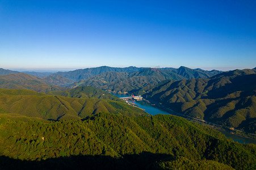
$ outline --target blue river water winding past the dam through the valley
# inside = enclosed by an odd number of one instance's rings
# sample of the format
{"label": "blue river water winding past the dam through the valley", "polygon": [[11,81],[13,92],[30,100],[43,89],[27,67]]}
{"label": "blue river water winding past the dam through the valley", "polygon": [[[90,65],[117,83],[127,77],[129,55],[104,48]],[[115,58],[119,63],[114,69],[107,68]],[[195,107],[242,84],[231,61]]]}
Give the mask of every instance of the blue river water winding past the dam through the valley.
{"label": "blue river water winding past the dam through the valley", "polygon": [[[113,94],[117,97],[128,97],[129,95],[125,95],[125,94]],[[140,108],[145,109],[145,112],[152,114],[152,115],[156,115],[156,114],[173,114],[175,116],[180,116],[182,117],[181,114],[177,114],[175,112],[166,112],[165,110],[156,107],[155,105],[152,105],[150,103],[147,103],[145,100],[141,100],[141,101],[133,101],[133,103],[139,105]],[[230,134],[224,130],[219,130],[221,133],[223,133],[227,138],[231,138],[233,139],[233,141],[236,142],[240,142],[240,143],[254,143],[256,144],[256,140],[255,139],[250,139],[250,138],[246,138],[246,137],[241,137],[239,135],[235,135],[235,134]]]}

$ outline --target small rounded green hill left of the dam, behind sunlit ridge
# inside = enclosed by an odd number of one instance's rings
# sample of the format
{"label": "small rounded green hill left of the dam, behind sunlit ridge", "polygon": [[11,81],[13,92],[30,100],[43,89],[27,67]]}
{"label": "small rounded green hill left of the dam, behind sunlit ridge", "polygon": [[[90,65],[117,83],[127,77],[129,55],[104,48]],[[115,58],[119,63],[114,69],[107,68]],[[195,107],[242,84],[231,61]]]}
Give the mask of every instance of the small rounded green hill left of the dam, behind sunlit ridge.
{"label": "small rounded green hill left of the dam, behind sunlit ridge", "polygon": [[121,101],[119,97],[111,95],[109,92],[100,90],[91,86],[79,86],[66,91],[52,91],[48,92],[49,95],[60,95],[65,97],[76,98],[98,98],[98,99],[110,99],[115,101]]}

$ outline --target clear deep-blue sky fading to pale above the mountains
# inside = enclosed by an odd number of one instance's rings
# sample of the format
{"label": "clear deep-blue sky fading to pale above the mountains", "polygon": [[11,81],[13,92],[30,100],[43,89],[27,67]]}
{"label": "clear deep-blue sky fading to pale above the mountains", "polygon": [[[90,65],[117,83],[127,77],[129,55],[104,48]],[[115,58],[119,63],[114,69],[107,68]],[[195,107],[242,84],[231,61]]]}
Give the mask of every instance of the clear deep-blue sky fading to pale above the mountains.
{"label": "clear deep-blue sky fading to pale above the mountains", "polygon": [[0,0],[0,67],[256,67],[256,1]]}

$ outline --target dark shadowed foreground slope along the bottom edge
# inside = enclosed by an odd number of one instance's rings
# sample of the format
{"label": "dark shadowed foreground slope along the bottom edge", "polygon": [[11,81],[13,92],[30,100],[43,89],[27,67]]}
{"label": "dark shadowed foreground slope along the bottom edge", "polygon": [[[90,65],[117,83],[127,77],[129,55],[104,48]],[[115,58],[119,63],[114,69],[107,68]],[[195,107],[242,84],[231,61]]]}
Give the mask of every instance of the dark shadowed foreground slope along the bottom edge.
{"label": "dark shadowed foreground slope along the bottom edge", "polygon": [[[165,161],[163,161],[165,160]],[[113,158],[104,155],[79,155],[50,158],[41,161],[27,161],[0,156],[1,169],[233,169],[232,167],[213,160],[189,160],[180,156],[167,154],[123,155],[122,158]]]}

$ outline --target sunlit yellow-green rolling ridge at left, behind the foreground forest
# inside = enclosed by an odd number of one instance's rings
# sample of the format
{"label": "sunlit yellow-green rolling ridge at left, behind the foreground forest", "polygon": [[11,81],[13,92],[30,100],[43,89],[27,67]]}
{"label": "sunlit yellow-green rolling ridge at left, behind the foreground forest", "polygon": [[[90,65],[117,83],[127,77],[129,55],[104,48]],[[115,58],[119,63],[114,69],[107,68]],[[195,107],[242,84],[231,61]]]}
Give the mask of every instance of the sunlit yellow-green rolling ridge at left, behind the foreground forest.
{"label": "sunlit yellow-green rolling ridge at left, behind the foreground forest", "polygon": [[78,99],[45,95],[29,90],[2,89],[0,90],[0,113],[17,113],[45,120],[81,119],[100,112],[127,116],[148,114],[140,108],[128,105],[123,100],[118,98],[116,100]]}

